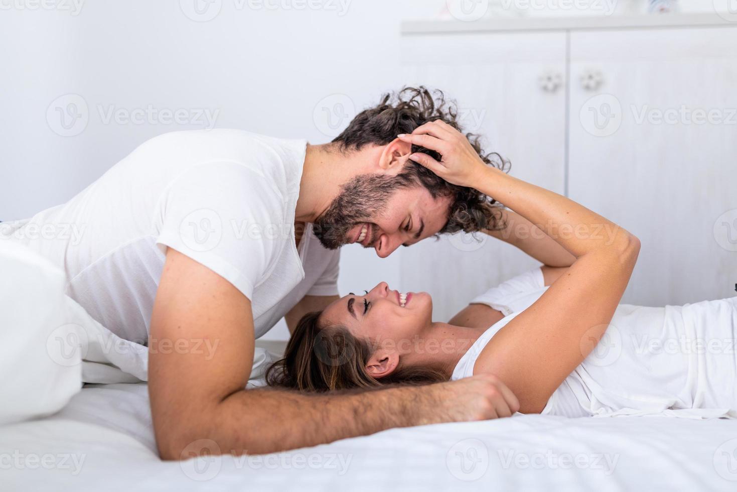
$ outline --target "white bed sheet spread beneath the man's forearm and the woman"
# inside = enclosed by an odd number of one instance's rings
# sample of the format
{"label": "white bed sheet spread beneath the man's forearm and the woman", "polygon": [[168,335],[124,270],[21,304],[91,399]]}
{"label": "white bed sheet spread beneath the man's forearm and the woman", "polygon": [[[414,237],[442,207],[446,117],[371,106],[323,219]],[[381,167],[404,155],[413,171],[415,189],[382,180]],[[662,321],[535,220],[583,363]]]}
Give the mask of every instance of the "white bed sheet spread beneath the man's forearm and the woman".
{"label": "white bed sheet spread beneath the man's forearm and the woman", "polygon": [[145,384],[85,387],[0,427],[3,491],[737,490],[737,421],[523,415],[266,457],[161,462]]}

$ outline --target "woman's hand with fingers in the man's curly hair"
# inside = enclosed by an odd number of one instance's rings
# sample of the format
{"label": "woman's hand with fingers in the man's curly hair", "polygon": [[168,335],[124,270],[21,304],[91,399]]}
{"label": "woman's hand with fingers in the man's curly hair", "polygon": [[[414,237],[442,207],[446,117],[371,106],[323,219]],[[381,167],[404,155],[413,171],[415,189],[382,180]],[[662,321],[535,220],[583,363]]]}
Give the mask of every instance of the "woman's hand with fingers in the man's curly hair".
{"label": "woman's hand with fingers in the man's curly hair", "polygon": [[411,154],[410,159],[451,184],[475,188],[487,167],[466,136],[439,119],[415,128],[412,134],[397,137],[438,152],[442,156],[440,161],[421,152]]}

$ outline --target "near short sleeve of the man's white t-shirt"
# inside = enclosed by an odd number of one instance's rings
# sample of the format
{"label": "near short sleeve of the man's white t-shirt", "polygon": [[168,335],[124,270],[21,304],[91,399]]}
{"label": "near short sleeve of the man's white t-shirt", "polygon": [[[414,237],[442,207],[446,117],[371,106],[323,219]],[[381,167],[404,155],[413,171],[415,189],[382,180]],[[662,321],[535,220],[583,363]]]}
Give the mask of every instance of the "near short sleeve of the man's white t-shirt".
{"label": "near short sleeve of the man's white t-shirt", "polygon": [[161,196],[156,243],[206,266],[252,299],[290,234],[276,184],[234,162],[198,164]]}

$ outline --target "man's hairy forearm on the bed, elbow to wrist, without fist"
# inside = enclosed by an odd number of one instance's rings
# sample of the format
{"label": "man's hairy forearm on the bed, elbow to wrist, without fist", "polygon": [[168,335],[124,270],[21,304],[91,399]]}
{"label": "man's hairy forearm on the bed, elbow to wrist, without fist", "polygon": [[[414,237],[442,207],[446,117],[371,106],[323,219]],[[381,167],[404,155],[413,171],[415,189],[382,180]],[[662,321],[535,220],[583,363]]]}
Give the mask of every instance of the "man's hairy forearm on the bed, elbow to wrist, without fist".
{"label": "man's hairy forearm on the bed, elbow to wrist, without fist", "polygon": [[[423,414],[434,406],[430,403],[438,386],[333,395],[246,389],[228,396],[195,422],[186,422],[178,437],[159,443],[159,449],[162,458],[178,460],[190,443],[209,439],[223,454],[265,454],[430,423]],[[436,415],[432,421],[443,417]]]}

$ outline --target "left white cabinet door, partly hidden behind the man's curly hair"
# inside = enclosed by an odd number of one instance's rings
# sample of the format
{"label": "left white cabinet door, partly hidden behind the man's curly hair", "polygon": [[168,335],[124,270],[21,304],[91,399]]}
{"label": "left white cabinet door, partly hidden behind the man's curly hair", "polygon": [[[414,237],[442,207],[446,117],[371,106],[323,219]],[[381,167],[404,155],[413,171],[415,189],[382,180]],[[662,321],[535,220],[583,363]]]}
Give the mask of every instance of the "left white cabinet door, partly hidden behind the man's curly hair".
{"label": "left white cabinet door, partly hidden behind the man's curly hair", "polygon": [[[511,161],[510,173],[564,191],[565,34],[408,35],[405,80],[457,100],[467,131]],[[540,77],[549,77],[547,88]],[[472,297],[539,263],[479,234],[444,236],[402,251],[403,291],[433,294],[434,317],[447,321]]]}

